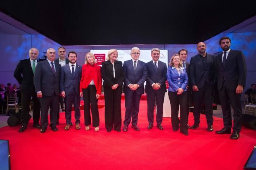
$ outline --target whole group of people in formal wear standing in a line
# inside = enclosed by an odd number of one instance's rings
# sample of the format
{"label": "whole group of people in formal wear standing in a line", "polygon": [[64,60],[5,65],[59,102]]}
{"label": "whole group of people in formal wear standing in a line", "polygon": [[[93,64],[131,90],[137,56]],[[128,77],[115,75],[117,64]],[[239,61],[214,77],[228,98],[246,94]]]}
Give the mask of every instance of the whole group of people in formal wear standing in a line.
{"label": "whole group of people in formal wear standing in a line", "polygon": [[[145,63],[139,60],[140,49],[133,47],[131,59],[122,63],[118,61],[118,51],[111,49],[107,61],[102,67],[95,65],[94,54],[87,53],[85,64],[81,67],[76,63],[76,52],[70,51],[66,65],[61,66],[56,60],[55,49],[47,50],[47,59],[38,62],[38,49],[29,51],[29,59],[21,60],[14,71],[14,77],[22,84],[21,89],[21,128],[26,130],[28,124],[28,101],[33,97],[33,126],[45,133],[48,125],[48,109],[50,107],[50,126],[57,131],[59,112],[59,96],[65,100],[65,130],[73,125],[71,108],[74,105],[76,129],[80,126],[80,97],[84,100],[85,130],[90,130],[91,114],[92,127],[99,131],[99,111],[97,101],[102,90],[102,79],[105,100],[105,128],[107,132],[128,131],[131,128],[138,131],[137,126],[141,95],[147,93],[147,118],[152,129],[154,124],[154,106],[156,105],[156,127],[163,130],[164,95],[166,80],[169,84],[168,96],[171,104],[171,123],[173,131],[188,135],[188,129],[196,129],[200,123],[200,112],[204,104],[207,119],[207,130],[213,131],[213,90],[217,82],[223,111],[224,128],[216,131],[218,134],[231,134],[232,119],[230,105],[234,109],[234,127],[231,139],[238,139],[242,124],[241,93],[246,80],[246,64],[241,51],[230,49],[229,37],[220,39],[223,52],[218,56],[206,53],[206,44],[197,44],[198,55],[186,62],[187,50],[181,49],[171,57],[169,67],[159,61],[160,50],[151,50],[152,61]],[[66,49],[60,47],[66,54]],[[65,57],[64,57],[65,58]],[[22,75],[22,77],[21,77]],[[121,94],[125,93],[125,117],[121,119]],[[194,105],[194,124],[188,125],[189,103]],[[38,100],[39,99],[39,100]],[[40,103],[40,104],[39,104]],[[180,119],[178,112],[180,107]],[[39,116],[41,108],[41,125]],[[91,114],[90,114],[91,113]],[[34,117],[35,116],[35,117]]]}

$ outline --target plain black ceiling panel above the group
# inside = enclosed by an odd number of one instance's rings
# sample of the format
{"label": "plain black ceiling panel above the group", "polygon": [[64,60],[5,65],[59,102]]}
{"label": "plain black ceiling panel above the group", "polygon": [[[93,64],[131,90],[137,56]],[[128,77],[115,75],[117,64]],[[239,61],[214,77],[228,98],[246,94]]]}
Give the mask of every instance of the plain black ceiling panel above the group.
{"label": "plain black ceiling panel above the group", "polygon": [[62,45],[197,44],[256,15],[256,0],[6,0],[0,11]]}

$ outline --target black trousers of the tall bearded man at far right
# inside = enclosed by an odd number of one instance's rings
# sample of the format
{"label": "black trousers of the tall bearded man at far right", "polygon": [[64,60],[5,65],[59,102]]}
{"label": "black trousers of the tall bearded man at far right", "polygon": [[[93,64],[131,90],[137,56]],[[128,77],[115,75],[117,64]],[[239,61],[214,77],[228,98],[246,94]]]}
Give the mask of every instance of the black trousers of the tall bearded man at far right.
{"label": "black trousers of the tall bearded man at far right", "polygon": [[242,126],[242,107],[241,94],[236,94],[235,91],[229,90],[225,84],[219,92],[221,109],[223,113],[223,122],[226,129],[232,128],[232,115],[230,104],[234,110],[234,132],[240,132]]}

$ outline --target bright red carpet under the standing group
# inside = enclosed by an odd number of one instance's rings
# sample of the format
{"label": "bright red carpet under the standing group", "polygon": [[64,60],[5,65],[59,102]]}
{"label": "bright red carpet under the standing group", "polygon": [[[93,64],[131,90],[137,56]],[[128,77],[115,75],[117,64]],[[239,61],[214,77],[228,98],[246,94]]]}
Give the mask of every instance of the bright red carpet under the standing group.
{"label": "bright red carpet under the standing group", "polygon": [[[99,105],[104,101],[100,100]],[[121,105],[123,118],[123,100]],[[41,134],[32,128],[32,120],[24,133],[18,132],[18,126],[0,128],[0,139],[9,140],[12,170],[242,170],[256,145],[256,132],[248,128],[242,128],[239,140],[207,132],[204,115],[200,127],[189,130],[189,136],[173,132],[171,118],[164,118],[163,131],[155,126],[147,130],[146,100],[140,104],[140,131],[129,126],[128,132],[108,133],[104,108],[100,109],[100,131],[85,131],[81,113],[81,130],[71,126],[65,131],[64,113],[58,132],[48,127]],[[222,127],[222,119],[214,118],[213,128]]]}

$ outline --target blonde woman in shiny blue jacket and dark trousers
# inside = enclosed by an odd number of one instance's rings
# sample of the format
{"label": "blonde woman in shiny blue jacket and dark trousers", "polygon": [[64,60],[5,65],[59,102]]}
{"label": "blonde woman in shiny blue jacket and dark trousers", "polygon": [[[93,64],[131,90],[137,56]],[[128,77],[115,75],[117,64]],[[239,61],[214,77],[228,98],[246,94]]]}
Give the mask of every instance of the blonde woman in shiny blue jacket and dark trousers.
{"label": "blonde woman in shiny blue jacket and dark trousers", "polygon": [[[182,67],[180,56],[175,54],[171,57],[170,67],[167,70],[167,81],[169,84],[168,96],[171,104],[171,123],[173,131],[188,135],[187,130],[187,84],[188,77],[186,69]],[[180,106],[180,119],[178,118]]]}

